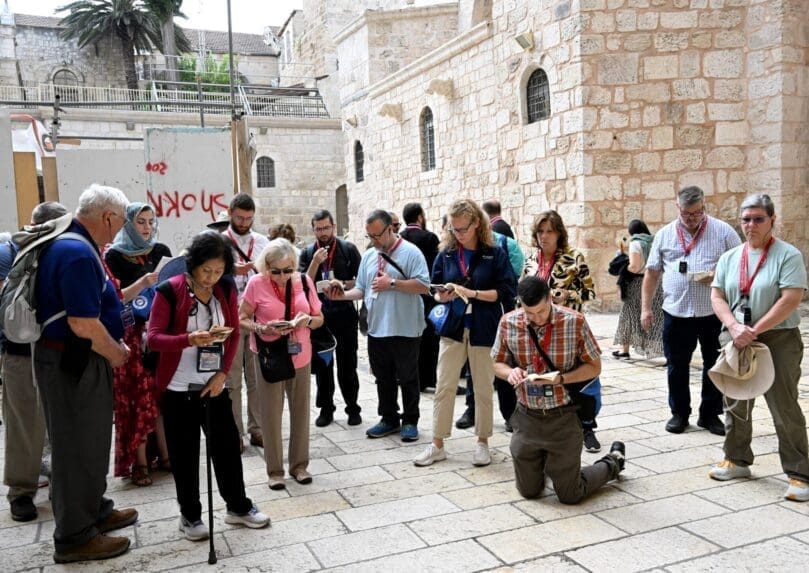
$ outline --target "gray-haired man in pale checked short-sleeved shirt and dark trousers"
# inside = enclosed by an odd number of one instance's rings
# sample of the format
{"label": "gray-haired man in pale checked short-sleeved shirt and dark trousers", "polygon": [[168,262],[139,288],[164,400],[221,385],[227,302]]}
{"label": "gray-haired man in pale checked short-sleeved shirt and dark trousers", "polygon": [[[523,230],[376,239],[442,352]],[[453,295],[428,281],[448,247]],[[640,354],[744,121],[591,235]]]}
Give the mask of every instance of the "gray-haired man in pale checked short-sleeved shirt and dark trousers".
{"label": "gray-haired man in pale checked short-sleeved shirt and dark trousers", "polygon": [[663,350],[668,361],[671,419],[666,430],[680,434],[691,415],[689,370],[699,342],[702,353],[702,403],[697,425],[725,435],[722,394],[708,378],[719,356],[722,323],[711,307],[711,282],[716,263],[741,243],[733,227],[705,214],[705,195],[699,187],[683,188],[677,199],[680,216],[655,235],[641,295],[641,325],[654,320],[652,298],[663,276]]}

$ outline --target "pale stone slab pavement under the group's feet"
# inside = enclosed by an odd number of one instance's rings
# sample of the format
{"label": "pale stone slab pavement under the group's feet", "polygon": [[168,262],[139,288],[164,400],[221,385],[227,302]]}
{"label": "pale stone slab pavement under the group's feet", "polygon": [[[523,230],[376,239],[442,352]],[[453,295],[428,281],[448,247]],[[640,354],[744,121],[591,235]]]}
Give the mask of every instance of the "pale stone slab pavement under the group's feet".
{"label": "pale stone slab pavement under the group's feet", "polygon": [[[722,438],[695,426],[679,436],[666,433],[669,410],[661,362],[613,359],[616,315],[588,318],[604,352],[598,436],[605,450],[612,440],[624,440],[628,462],[620,481],[580,505],[563,506],[552,491],[539,500],[519,496],[509,435],[499,413],[491,439],[494,461],[485,468],[472,466],[474,436],[458,430],[447,442],[447,461],[413,466],[411,458],[431,437],[432,394],[422,395],[422,437],[417,443],[405,445],[396,437],[367,439],[365,430],[376,421],[376,394],[366,370],[361,376],[363,425],[351,428],[340,414],[327,428],[312,427],[311,485],[288,481],[286,491],[271,491],[260,451],[247,449],[248,494],[272,517],[272,527],[225,525],[223,502],[215,496],[215,567],[206,563],[207,543],[181,538],[171,476],[156,474],[154,485],[146,488],[109,478],[109,495],[119,507],[136,507],[140,520],[123,530],[132,539],[132,549],[106,562],[54,565],[47,491],[37,499],[39,520],[29,524],[11,520],[3,496],[0,571],[674,572],[805,567],[809,503],[782,498],[786,478],[766,407],[753,411],[753,450],[758,456],[753,479],[713,481],[707,471],[722,459]],[[807,319],[803,330],[806,342]],[[800,388],[805,412],[806,365]],[[697,379],[696,373],[692,379]],[[692,396],[698,401],[696,384]],[[457,399],[456,416],[462,400]],[[312,420],[315,415],[313,409]],[[583,453],[582,459],[592,463],[601,455]],[[204,487],[204,460],[201,463]]]}

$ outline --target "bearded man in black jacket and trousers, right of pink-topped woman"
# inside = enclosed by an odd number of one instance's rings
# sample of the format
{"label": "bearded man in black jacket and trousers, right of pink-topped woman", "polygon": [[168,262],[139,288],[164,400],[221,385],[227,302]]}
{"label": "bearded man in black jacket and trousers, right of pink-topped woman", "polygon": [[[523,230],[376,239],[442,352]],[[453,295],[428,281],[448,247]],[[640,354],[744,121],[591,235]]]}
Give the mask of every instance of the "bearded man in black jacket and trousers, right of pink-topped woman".
{"label": "bearded man in black jacket and trousers, right of pink-topped woman", "polygon": [[[340,239],[335,234],[334,219],[325,209],[312,217],[312,231],[315,242],[301,253],[298,267],[307,273],[313,282],[337,280],[346,289],[354,288],[354,279],[360,268],[360,253],[352,243]],[[334,356],[337,362],[337,383],[346,403],[348,425],[362,423],[357,397],[360,381],[357,377],[357,329],[359,316],[354,303],[331,301],[325,294],[319,294],[323,303],[323,317],[326,327],[337,340]],[[315,404],[320,415],[315,420],[319,428],[328,426],[334,420],[334,365],[326,364],[317,356],[312,358],[312,369],[317,383]]]}

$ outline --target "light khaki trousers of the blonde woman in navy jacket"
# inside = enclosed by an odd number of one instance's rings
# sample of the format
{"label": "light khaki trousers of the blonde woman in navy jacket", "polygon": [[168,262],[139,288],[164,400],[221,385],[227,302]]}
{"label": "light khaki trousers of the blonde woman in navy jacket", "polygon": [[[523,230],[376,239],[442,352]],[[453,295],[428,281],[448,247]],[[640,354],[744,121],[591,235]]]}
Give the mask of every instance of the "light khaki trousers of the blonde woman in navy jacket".
{"label": "light khaki trousers of the blonde woman in navy jacket", "polygon": [[475,385],[475,434],[479,438],[492,435],[494,361],[491,350],[489,346],[471,346],[468,328],[464,329],[461,342],[441,337],[438,345],[438,381],[433,400],[434,438],[443,440],[452,432],[455,391],[458,389],[461,368],[467,359]]}

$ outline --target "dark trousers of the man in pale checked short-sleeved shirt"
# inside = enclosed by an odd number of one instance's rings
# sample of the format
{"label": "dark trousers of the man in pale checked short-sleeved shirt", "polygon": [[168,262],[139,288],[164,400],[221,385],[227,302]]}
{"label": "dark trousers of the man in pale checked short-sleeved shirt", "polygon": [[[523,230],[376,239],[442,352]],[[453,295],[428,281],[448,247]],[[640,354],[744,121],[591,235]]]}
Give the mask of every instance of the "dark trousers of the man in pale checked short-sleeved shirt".
{"label": "dark trousers of the man in pale checked short-sleeved shirt", "polygon": [[722,414],[722,393],[708,378],[708,371],[719,356],[722,323],[711,314],[679,318],[663,311],[663,350],[668,360],[669,407],[672,414],[691,415],[691,357],[699,342],[702,352],[702,403],[699,415]]}

